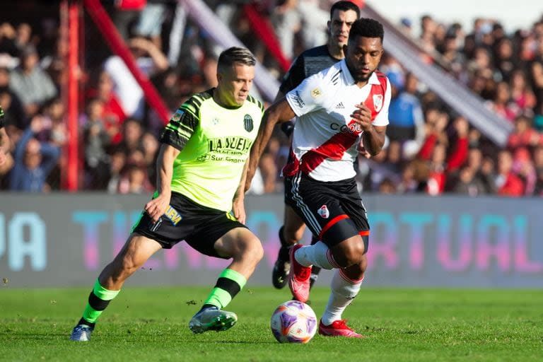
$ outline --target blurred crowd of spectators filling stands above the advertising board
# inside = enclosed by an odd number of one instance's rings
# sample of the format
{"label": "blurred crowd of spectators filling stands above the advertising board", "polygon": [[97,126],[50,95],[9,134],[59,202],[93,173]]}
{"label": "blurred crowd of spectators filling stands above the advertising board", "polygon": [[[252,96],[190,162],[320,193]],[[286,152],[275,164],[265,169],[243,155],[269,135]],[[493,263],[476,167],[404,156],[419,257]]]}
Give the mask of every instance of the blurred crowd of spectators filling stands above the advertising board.
{"label": "blurred crowd of spectators filling stands above the advertising board", "polygon": [[[242,11],[250,2],[206,1],[280,80],[284,71],[257,40]],[[216,85],[220,49],[176,8],[177,1],[130,3],[132,7],[123,8],[111,1],[107,10],[139,68],[172,112],[192,93]],[[270,19],[286,57],[325,43],[329,1],[257,1],[257,5]],[[414,31],[411,19],[397,26],[411,32],[433,62],[483,98],[514,130],[506,147],[494,145],[386,55],[380,70],[392,84],[388,141],[378,156],[359,159],[361,191],[543,195],[543,16],[514,33],[487,18],[474,20],[472,29],[432,16],[419,20],[420,32]],[[175,31],[179,27],[182,31]],[[163,124],[88,18],[85,43],[80,189],[151,192]],[[0,189],[47,192],[64,187],[64,147],[69,139],[62,84],[68,47],[58,14],[0,24],[0,105],[13,144],[11,157],[0,166]],[[288,146],[288,138],[277,130],[250,192],[281,191],[280,170]]]}

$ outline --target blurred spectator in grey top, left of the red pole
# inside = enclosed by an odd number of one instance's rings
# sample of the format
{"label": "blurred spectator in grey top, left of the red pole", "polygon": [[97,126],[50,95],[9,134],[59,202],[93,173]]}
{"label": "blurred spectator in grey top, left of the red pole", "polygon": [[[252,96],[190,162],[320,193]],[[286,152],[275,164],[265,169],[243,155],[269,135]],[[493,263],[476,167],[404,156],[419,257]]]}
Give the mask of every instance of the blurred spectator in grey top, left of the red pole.
{"label": "blurred spectator in grey top, left of the red pole", "polygon": [[21,65],[11,72],[10,88],[16,93],[28,117],[36,115],[48,100],[57,95],[57,88],[41,68],[35,47],[28,45],[21,54]]}

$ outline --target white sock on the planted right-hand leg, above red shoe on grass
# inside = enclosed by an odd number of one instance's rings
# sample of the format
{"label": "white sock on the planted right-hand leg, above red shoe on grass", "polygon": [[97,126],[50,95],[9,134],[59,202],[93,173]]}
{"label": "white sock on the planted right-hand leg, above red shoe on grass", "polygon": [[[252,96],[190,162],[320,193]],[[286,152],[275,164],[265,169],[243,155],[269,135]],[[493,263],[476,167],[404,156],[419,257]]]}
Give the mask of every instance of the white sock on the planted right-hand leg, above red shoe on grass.
{"label": "white sock on the planted right-hand leg, above red shoe on grass", "polygon": [[349,279],[343,269],[336,269],[332,277],[332,293],[328,299],[325,313],[322,315],[322,324],[331,325],[334,320],[341,320],[341,314],[351,301],[358,295],[363,278],[360,280]]}

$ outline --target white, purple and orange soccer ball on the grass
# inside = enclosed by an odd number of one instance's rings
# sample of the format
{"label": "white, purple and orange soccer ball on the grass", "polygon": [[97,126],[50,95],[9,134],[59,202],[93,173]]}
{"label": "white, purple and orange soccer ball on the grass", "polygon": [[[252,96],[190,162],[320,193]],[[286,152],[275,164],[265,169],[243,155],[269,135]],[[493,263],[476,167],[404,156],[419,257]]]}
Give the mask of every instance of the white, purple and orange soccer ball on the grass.
{"label": "white, purple and orange soccer ball on the grass", "polygon": [[288,300],[271,315],[270,327],[280,343],[308,343],[317,332],[317,317],[309,305]]}

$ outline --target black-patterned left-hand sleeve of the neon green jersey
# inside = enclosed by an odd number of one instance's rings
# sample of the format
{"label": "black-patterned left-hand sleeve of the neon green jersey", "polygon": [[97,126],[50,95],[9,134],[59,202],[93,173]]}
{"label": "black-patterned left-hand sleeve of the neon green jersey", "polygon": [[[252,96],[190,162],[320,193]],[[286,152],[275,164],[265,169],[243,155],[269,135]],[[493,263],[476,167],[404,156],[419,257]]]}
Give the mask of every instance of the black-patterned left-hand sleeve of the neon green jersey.
{"label": "black-patterned left-hand sleeve of the neon green jersey", "polygon": [[199,124],[199,108],[192,98],[175,111],[160,134],[160,142],[182,151]]}

